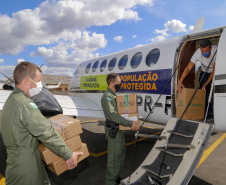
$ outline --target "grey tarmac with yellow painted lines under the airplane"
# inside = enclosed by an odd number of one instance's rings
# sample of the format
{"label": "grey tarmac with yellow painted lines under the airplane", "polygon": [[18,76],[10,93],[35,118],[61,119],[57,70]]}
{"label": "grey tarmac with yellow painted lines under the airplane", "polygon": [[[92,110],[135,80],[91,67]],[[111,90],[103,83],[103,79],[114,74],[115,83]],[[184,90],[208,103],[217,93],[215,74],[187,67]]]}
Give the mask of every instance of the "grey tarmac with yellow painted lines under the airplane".
{"label": "grey tarmac with yellow painted lines under the airplane", "polygon": [[[0,112],[1,114],[1,112]],[[1,116],[1,115],[0,115]],[[68,170],[57,176],[46,169],[52,185],[104,185],[107,162],[107,146],[104,134],[104,120],[89,117],[77,117],[81,120],[83,133],[81,139],[87,143],[90,156],[78,164],[73,170]],[[141,133],[160,134],[164,126],[153,123],[145,123]],[[121,174],[122,178],[128,177],[140,166],[143,160],[154,146],[156,139],[140,138],[137,142],[132,168],[134,133],[125,131],[126,161]],[[213,133],[199,166],[196,169],[189,185],[225,185],[226,184],[226,134]],[[6,150],[0,134],[0,184],[4,181],[6,169]]]}

